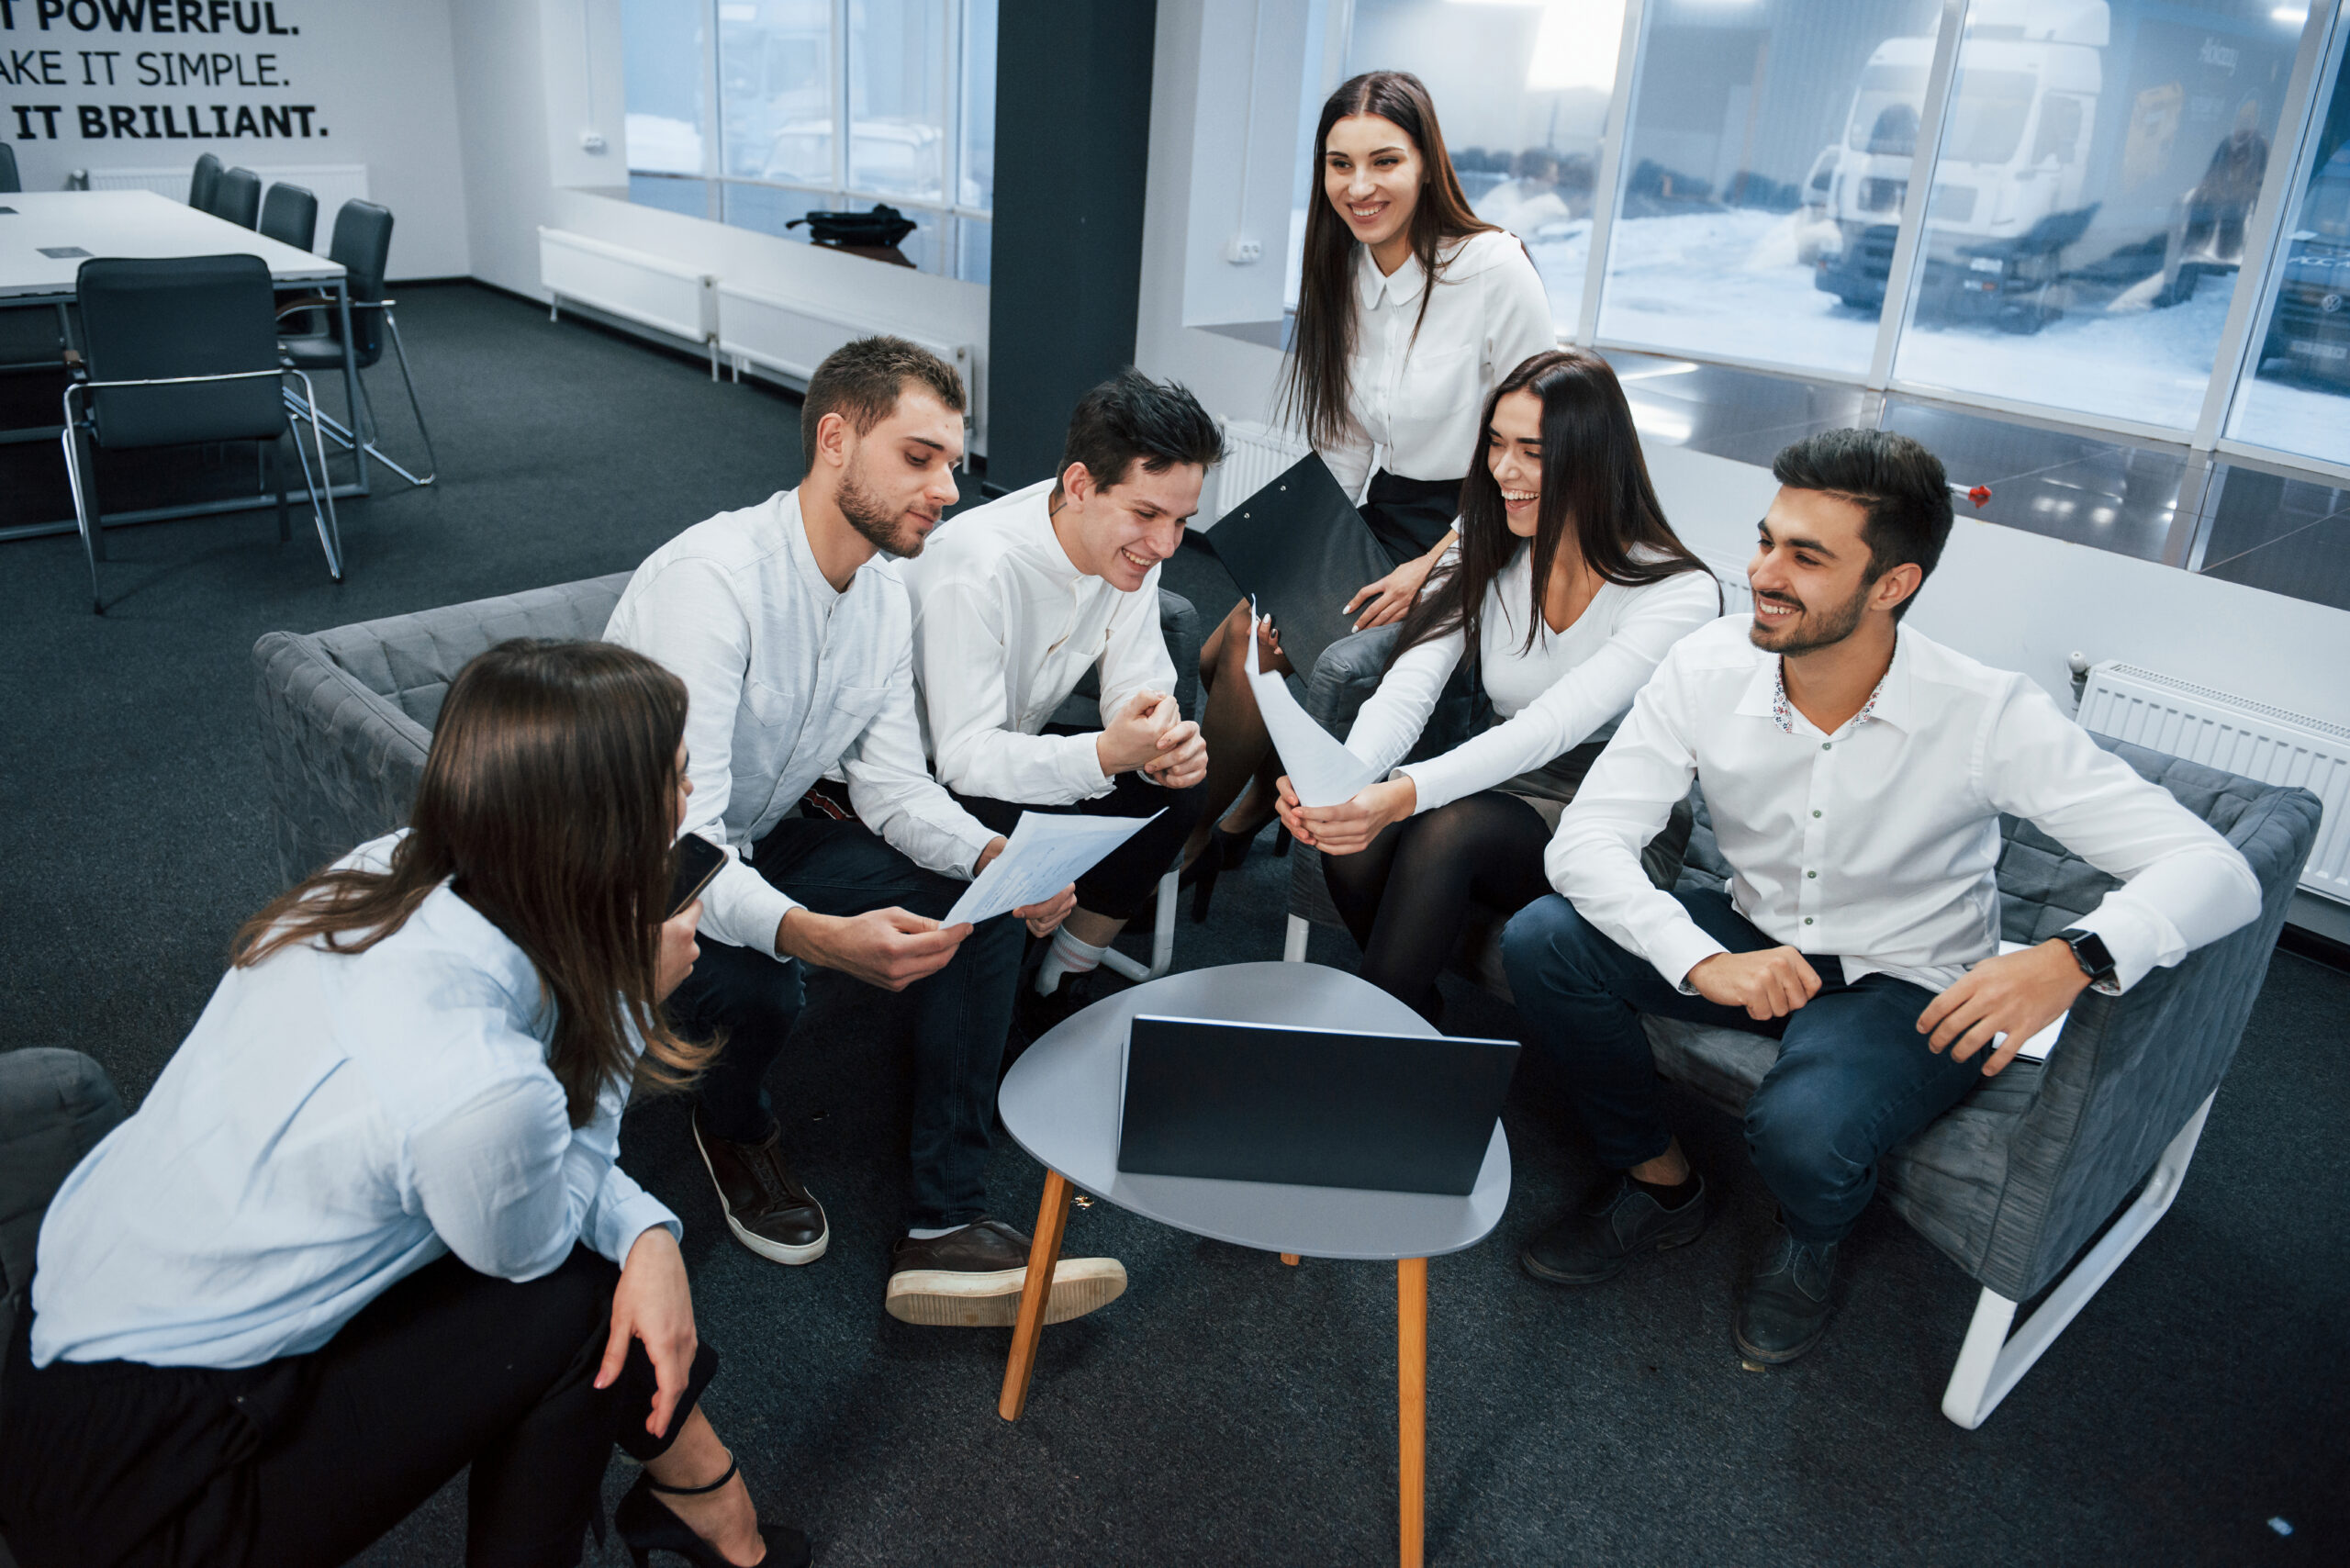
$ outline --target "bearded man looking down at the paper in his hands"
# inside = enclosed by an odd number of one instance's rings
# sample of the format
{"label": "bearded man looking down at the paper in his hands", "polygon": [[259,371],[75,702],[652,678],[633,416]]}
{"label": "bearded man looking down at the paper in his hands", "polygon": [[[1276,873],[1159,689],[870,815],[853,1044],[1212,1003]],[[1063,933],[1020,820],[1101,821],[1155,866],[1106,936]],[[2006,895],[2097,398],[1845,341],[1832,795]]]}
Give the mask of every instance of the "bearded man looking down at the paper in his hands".
{"label": "bearded man looking down at the paper in his hands", "polygon": [[[1003,851],[931,778],[914,719],[912,607],[895,564],[954,505],[964,383],[902,339],[858,339],[815,367],[801,402],[808,477],[719,512],[656,550],[604,637],[686,682],[686,832],[728,863],[703,893],[703,952],[667,1001],[679,1034],[724,1048],[703,1074],[693,1140],[736,1241],[813,1262],[822,1204],[783,1159],[766,1070],[804,1001],[804,969],[837,969],[914,1001],[909,1229],[886,1307],[909,1324],[1010,1324],[1029,1241],[987,1218],[987,1131],[1020,971],[1010,917],[940,926]],[[846,806],[815,785],[839,773]],[[806,802],[806,809],[804,809]],[[1013,917],[1050,933],[1074,891]],[[1114,1300],[1114,1258],[1062,1262],[1048,1314]]]}

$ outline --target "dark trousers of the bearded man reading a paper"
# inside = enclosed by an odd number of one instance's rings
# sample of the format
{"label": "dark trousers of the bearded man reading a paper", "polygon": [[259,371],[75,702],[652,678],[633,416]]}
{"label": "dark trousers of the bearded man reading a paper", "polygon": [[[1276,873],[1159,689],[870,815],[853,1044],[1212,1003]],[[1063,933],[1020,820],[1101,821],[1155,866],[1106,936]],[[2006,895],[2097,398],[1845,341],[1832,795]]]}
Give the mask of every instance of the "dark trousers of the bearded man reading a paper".
{"label": "dark trousers of the bearded man reading a paper", "polygon": [[[752,846],[750,863],[818,914],[895,905],[938,919],[966,886],[914,865],[865,823],[825,816],[776,823]],[[996,1119],[1022,936],[1025,926],[1008,914],[980,922],[945,969],[905,992],[914,1004],[909,1225],[968,1225],[987,1213],[987,1128]],[[728,1143],[766,1138],[776,1124],[766,1070],[801,1006],[806,976],[797,959],[703,943],[665,1011],[686,1039],[726,1037],[698,1088],[707,1133]]]}

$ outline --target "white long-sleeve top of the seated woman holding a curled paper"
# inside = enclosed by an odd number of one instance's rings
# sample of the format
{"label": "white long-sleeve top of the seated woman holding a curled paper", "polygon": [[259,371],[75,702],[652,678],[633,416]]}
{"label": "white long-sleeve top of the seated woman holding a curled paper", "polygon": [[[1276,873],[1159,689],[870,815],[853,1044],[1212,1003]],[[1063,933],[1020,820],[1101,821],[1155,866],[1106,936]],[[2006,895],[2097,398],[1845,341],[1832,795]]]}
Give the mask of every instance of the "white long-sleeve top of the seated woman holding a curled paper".
{"label": "white long-sleeve top of the seated woman holding a curled paper", "polygon": [[1638,588],[1600,583],[1563,632],[1537,618],[1528,649],[1532,559],[1532,548],[1520,545],[1485,590],[1478,675],[1499,724],[1441,757],[1396,766],[1469,649],[1469,632],[1455,630],[1398,656],[1347,731],[1347,750],[1379,773],[1394,769],[1412,780],[1415,811],[1490,790],[1584,741],[1605,741],[1666,649],[1723,611],[1711,571],[1676,571]]}

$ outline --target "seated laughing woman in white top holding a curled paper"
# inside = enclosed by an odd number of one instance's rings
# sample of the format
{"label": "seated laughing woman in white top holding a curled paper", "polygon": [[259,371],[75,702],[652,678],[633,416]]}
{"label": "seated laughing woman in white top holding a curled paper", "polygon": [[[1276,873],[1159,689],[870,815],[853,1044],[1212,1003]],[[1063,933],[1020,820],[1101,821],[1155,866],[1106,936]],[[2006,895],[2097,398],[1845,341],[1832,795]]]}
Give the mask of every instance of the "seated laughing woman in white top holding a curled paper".
{"label": "seated laughing woman in white top holding a curled paper", "polygon": [[[1323,853],[1365,980],[1434,1018],[1469,905],[1511,914],[1549,891],[1542,851],[1574,785],[1666,649],[1718,614],[1720,588],[1666,524],[1607,362],[1556,348],[1513,369],[1485,400],[1457,552],[1347,736],[1386,778],[1323,809],[1278,785],[1281,820]],[[1471,658],[1497,722],[1396,766]],[[1678,837],[1659,842],[1661,867],[1678,863],[1685,823]]]}

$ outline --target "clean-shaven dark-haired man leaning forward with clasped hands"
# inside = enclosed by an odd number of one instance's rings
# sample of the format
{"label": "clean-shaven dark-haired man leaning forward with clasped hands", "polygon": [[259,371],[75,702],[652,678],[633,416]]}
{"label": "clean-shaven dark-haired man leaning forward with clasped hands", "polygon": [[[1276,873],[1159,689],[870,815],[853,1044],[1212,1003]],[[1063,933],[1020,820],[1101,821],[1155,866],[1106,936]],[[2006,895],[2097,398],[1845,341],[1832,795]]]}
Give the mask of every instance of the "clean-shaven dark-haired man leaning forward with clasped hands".
{"label": "clean-shaven dark-haired man leaning forward with clasped hands", "polygon": [[[1076,879],[1076,912],[1020,994],[1029,1032],[1086,1004],[1206,809],[1208,745],[1175,708],[1159,567],[1222,456],[1191,393],[1126,369],[1079,400],[1055,477],[956,515],[900,567],[924,733],[956,802],[999,832],[1022,811],[1156,816]],[[1102,726],[1053,724],[1088,670]]]}

